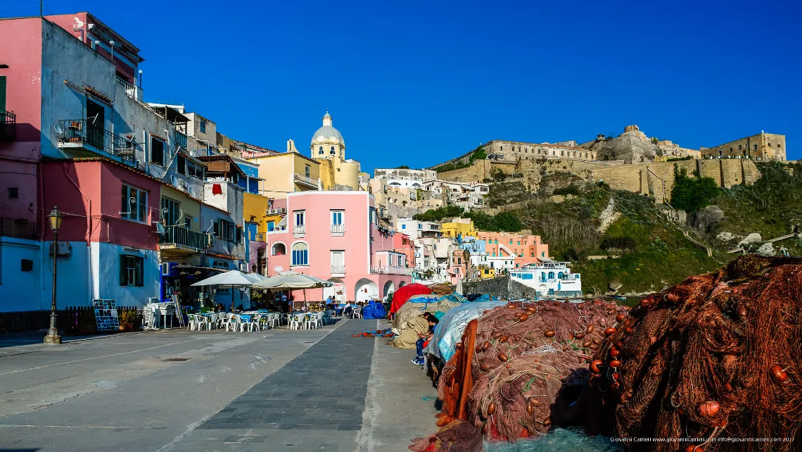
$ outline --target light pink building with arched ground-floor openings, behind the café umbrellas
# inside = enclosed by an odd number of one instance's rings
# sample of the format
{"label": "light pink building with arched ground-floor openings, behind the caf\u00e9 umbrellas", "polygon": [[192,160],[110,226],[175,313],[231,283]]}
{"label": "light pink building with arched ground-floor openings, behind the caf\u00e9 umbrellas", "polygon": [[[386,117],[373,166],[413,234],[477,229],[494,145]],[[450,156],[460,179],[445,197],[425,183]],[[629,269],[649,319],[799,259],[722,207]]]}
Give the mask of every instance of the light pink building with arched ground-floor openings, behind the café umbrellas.
{"label": "light pink building with arched ground-floor openings, behind the caf\u00e9 umbrellas", "polygon": [[393,232],[378,226],[370,193],[297,192],[286,202],[287,229],[265,234],[268,274],[293,270],[334,283],[306,299],[367,301],[410,282],[407,256],[395,250]]}

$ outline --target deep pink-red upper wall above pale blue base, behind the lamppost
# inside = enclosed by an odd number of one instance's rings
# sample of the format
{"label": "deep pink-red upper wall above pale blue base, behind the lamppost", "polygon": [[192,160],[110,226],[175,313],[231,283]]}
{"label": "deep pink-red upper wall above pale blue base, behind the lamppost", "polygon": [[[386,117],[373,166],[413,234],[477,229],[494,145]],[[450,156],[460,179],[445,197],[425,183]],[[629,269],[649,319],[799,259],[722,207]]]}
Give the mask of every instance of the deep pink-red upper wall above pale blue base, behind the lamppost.
{"label": "deep pink-red upper wall above pale blue base, behind the lamppost", "polygon": [[[43,176],[45,210],[59,206],[65,214],[59,240],[85,241],[91,222],[91,242],[158,249],[158,235],[152,218],[159,210],[159,181],[108,161],[48,162],[43,164]],[[71,180],[80,186],[80,190]],[[120,216],[123,184],[148,192],[147,222],[135,222]],[[52,240],[50,228],[45,229],[45,239]]]}

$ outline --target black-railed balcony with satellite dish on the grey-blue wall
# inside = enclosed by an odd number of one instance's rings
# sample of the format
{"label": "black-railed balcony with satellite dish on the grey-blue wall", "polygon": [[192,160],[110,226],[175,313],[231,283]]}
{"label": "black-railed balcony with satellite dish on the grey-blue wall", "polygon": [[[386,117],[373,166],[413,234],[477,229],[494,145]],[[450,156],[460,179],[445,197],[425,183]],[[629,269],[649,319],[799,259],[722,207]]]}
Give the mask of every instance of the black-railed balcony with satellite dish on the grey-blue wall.
{"label": "black-railed balcony with satellite dish on the grey-blue wall", "polygon": [[134,141],[126,136],[111,133],[102,125],[92,124],[86,118],[79,120],[59,120],[56,127],[59,133],[59,148],[83,149],[92,153],[109,153],[123,160],[134,162]]}

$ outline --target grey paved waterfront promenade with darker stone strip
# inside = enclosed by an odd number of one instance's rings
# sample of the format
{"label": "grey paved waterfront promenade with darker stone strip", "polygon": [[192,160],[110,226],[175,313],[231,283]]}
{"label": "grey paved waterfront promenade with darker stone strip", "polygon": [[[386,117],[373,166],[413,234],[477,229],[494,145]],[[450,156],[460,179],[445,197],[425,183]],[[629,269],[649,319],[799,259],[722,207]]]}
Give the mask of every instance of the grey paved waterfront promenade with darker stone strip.
{"label": "grey paved waterfront promenade with darker stone strip", "polygon": [[0,450],[407,450],[435,430],[384,328],[0,336]]}

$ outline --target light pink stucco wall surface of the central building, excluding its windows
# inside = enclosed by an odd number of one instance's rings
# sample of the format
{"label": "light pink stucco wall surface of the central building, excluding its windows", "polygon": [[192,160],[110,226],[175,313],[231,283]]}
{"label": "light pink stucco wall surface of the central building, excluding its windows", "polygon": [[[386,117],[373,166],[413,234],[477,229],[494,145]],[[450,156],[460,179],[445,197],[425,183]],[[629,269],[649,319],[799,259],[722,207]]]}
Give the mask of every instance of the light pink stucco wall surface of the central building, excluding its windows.
{"label": "light pink stucco wall surface of the central building, excluding its windows", "polygon": [[[409,283],[409,276],[374,275],[370,265],[378,250],[393,250],[391,236],[380,234],[376,226],[370,222],[370,210],[375,206],[374,197],[366,192],[326,192],[314,191],[290,193],[287,196],[287,215],[289,227],[283,231],[266,234],[268,246],[268,273],[275,275],[276,268],[294,270],[306,275],[314,275],[321,279],[334,279],[331,275],[331,251],[345,251],[345,276],[336,277],[342,281],[346,289],[345,297],[355,299],[355,291],[361,284],[370,281],[377,287],[377,294],[383,296],[387,282],[394,287]],[[304,210],[306,213],[306,232],[300,236],[294,234],[294,213]],[[331,210],[343,210],[345,232],[341,237],[332,234]],[[273,255],[273,247],[277,243],[286,246],[286,255]],[[291,267],[292,246],[296,242],[305,242],[309,246],[309,265]],[[309,300],[325,298],[322,290],[306,291]],[[295,295],[296,300],[302,294]]]}

